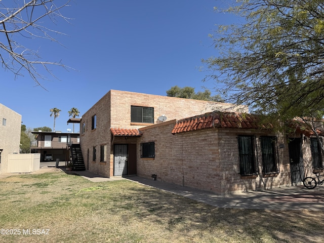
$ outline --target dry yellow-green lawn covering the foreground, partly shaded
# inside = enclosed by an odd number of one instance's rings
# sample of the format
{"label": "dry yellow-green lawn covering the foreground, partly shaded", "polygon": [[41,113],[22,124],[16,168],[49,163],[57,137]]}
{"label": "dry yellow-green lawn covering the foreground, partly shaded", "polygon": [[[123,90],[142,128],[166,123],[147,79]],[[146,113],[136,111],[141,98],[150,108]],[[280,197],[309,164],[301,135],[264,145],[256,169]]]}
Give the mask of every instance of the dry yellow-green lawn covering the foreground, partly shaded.
{"label": "dry yellow-green lawn covering the foreground, partly shaded", "polygon": [[8,177],[0,188],[0,228],[16,233],[0,242],[323,240],[324,212],[215,208],[128,180],[93,183],[57,171]]}

